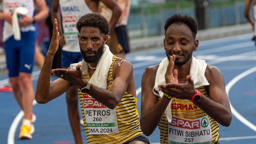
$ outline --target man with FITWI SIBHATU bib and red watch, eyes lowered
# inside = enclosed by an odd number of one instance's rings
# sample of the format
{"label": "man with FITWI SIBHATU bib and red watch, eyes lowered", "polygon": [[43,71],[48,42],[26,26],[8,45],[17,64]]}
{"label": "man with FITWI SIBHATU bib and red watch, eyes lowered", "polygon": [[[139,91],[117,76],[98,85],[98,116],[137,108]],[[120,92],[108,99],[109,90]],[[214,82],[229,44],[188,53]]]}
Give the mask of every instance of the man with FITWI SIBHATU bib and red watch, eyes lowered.
{"label": "man with FITWI SIBHATU bib and red watch, eyes lowered", "polygon": [[158,125],[160,143],[218,143],[219,124],[232,117],[223,76],[193,57],[195,19],[175,14],[164,29],[166,57],[142,75],[141,130],[150,135]]}

